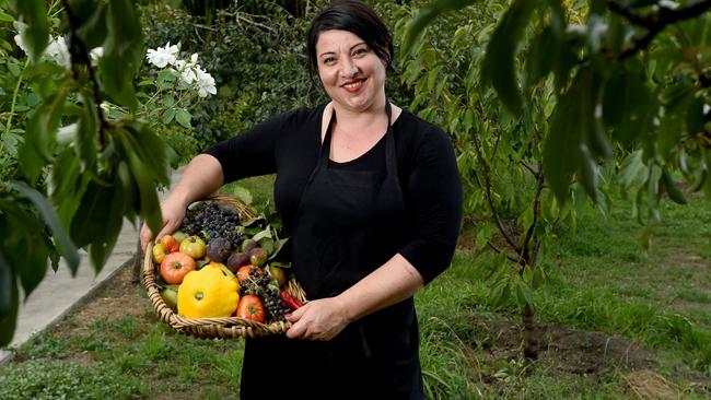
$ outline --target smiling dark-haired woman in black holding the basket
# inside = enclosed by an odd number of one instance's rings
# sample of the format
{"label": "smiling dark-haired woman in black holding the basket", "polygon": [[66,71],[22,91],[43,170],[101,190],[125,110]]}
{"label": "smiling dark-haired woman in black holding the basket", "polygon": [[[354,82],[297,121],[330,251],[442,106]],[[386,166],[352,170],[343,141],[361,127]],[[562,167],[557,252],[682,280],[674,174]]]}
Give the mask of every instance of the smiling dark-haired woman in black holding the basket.
{"label": "smiling dark-haired woman in black holding the basket", "polygon": [[311,302],[288,316],[285,337],[247,340],[242,398],[421,399],[412,295],[454,251],[454,152],[441,129],[386,101],[393,44],[368,5],[334,2],[307,48],[331,101],[196,156],[162,203],[158,236],[223,183],[276,173],[292,269]]}

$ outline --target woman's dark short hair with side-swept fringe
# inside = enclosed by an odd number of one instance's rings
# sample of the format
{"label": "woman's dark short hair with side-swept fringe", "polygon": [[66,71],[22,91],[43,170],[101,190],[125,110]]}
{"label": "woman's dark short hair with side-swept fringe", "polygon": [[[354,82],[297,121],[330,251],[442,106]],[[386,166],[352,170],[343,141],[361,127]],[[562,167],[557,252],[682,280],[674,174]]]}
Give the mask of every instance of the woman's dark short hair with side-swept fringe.
{"label": "woman's dark short hair with side-swept fringe", "polygon": [[308,70],[312,77],[318,71],[316,43],[325,31],[348,31],[360,37],[385,62],[393,64],[393,36],[375,11],[359,0],[336,0],[322,10],[308,30],[306,48],[308,50]]}

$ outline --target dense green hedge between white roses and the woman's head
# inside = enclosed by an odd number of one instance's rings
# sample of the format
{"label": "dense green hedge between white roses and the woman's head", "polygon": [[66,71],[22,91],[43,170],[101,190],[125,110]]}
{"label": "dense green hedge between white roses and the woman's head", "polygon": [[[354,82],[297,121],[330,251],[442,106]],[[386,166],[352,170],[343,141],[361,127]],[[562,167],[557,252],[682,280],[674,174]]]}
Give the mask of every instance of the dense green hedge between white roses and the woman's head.
{"label": "dense green hedge between white roses and the woman's head", "polygon": [[141,10],[149,47],[180,43],[184,51],[199,52],[214,77],[218,96],[191,113],[198,150],[276,114],[324,101],[306,68],[304,38],[314,10],[302,19],[281,7],[270,7],[268,15],[255,11],[231,5],[208,23],[166,4]]}

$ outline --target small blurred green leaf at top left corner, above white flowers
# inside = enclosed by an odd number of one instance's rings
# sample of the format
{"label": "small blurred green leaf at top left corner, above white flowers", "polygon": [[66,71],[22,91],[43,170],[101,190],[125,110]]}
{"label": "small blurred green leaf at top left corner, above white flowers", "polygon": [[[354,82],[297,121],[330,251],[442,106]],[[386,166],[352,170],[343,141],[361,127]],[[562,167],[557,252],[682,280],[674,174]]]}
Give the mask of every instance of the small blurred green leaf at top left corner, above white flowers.
{"label": "small blurred green leaf at top left corner, above white flowers", "polygon": [[30,58],[36,63],[49,45],[49,23],[45,0],[10,0],[18,21],[27,24],[23,39],[30,48]]}

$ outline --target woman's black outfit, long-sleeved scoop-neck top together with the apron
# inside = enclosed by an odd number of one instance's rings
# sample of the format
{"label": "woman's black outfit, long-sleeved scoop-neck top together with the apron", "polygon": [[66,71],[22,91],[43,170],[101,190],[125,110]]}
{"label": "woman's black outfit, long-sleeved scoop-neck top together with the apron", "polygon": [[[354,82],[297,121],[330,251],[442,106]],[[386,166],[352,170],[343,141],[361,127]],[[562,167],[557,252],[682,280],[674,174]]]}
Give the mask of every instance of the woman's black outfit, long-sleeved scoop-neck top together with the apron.
{"label": "woman's black outfit, long-sleeved scoop-neck top together with the apron", "polygon": [[[337,295],[395,254],[429,283],[452,260],[462,216],[448,138],[404,110],[365,154],[336,163],[328,160],[330,127],[322,151],[324,108],[277,116],[206,153],[225,181],[277,174],[275,202],[308,298]],[[329,342],[247,340],[241,396],[422,398],[418,349],[412,298],[350,323]]]}

